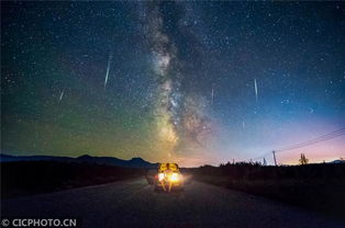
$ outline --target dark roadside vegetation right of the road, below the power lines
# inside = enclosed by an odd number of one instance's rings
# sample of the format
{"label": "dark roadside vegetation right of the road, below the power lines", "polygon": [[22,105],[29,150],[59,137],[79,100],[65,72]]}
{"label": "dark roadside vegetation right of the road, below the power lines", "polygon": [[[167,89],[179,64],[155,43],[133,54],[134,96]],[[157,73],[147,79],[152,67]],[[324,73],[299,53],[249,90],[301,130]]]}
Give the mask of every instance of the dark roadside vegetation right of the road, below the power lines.
{"label": "dark roadside vegetation right of the road, below the power lines", "polygon": [[345,164],[260,167],[227,164],[191,169],[193,179],[260,195],[345,220]]}

